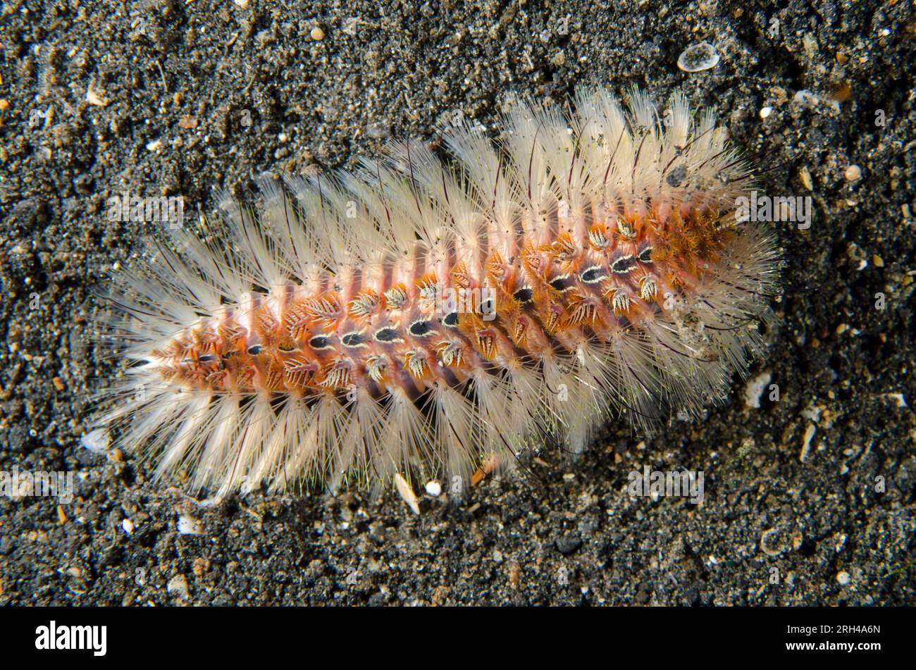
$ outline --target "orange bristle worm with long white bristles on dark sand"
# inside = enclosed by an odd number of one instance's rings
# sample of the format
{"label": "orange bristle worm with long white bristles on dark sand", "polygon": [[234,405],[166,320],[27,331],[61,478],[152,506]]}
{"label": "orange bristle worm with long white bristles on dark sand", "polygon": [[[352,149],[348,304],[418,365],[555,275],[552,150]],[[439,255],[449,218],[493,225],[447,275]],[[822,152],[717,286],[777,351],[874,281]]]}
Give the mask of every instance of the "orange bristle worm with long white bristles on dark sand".
{"label": "orange bristle worm with long white bristles on dark sand", "polygon": [[208,239],[150,243],[115,289],[133,362],[104,416],[218,495],[469,477],[609,411],[721,400],[760,344],[777,249],[736,222],[751,170],[675,96],[521,104],[353,173],[265,182]]}

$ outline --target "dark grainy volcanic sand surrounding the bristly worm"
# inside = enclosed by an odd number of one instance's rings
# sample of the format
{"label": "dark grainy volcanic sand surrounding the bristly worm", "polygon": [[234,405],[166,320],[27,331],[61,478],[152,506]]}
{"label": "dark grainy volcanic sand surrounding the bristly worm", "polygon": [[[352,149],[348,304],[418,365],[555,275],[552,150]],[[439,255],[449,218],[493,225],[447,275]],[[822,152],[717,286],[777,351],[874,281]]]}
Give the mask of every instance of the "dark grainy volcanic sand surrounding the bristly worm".
{"label": "dark grainy volcanic sand surrounding the bristly worm", "polygon": [[[0,604],[914,602],[916,426],[892,395],[916,402],[910,3],[76,5],[0,10],[0,468],[80,482],[60,509],[0,498]],[[718,65],[678,70],[702,40]],[[90,340],[90,290],[144,233],[106,220],[109,196],[181,195],[193,228],[215,188],[245,196],[264,173],[431,140],[443,114],[492,127],[518,97],[562,102],[578,83],[714,104],[773,168],[765,190],[812,197],[808,230],[777,225],[791,261],[752,371],[779,402],[748,408],[736,379],[700,422],[649,438],[614,422],[574,462],[543,450],[540,481],[516,470],[459,504],[424,496],[420,516],[391,493],[201,508],[132,455],[82,448],[90,389],[117,371]],[[643,465],[703,470],[705,501],[630,497]],[[180,515],[202,535],[181,535]]]}

